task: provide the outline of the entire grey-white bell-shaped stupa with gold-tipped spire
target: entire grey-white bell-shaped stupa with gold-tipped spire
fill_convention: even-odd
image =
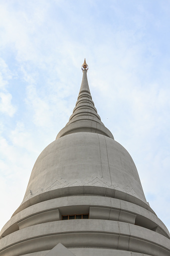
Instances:
[[[136,166],[101,122],[87,70],[69,122],[39,155],[0,256],[169,256],[169,232]],[[2,209],[3,210],[3,209]]]

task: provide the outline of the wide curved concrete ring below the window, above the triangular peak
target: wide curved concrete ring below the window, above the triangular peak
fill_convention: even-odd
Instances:
[[[61,242],[66,247],[102,247],[169,256],[169,239],[129,223],[109,220],[65,220],[42,223],[1,239],[0,255],[18,256],[50,250]]]

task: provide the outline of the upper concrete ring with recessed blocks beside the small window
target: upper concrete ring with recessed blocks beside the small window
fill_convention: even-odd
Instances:
[[[155,232],[161,230],[163,235],[169,237],[165,225],[150,211],[123,200],[99,196],[62,197],[32,205],[14,215],[1,230],[0,237],[19,230],[19,227],[21,229],[22,223],[26,227],[61,220],[61,215],[82,213],[89,213],[91,219],[118,220],[132,223],[129,218],[130,215],[135,218],[137,225]]]

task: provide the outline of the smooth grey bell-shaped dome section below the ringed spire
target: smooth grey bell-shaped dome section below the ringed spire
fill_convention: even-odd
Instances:
[[[115,140],[97,133],[72,133],[49,144],[35,162],[23,203],[73,186],[116,189],[146,203],[130,154]]]

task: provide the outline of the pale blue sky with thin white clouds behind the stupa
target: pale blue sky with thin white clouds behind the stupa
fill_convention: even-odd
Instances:
[[[170,230],[170,2],[0,1],[0,229],[66,125],[86,58],[101,121]]]

